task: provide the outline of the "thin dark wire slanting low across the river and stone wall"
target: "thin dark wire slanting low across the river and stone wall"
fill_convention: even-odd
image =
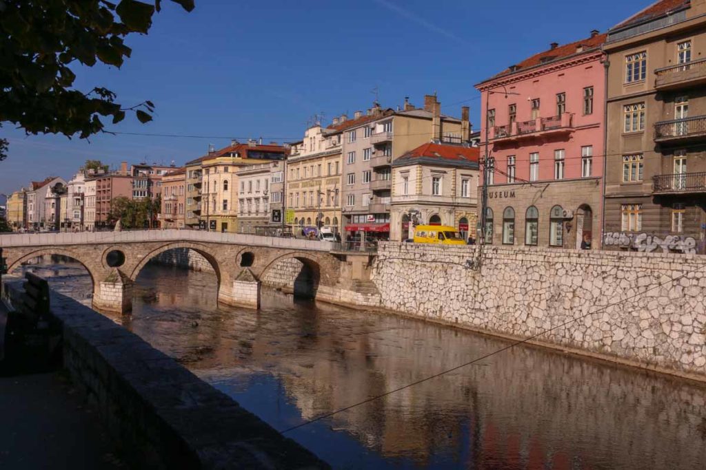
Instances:
[[[388,259],[388,258],[383,257],[383,258],[381,258],[381,261],[383,261],[383,259]],[[406,385],[402,385],[401,387],[395,388],[395,389],[393,389],[393,390],[389,390],[388,392],[381,393],[380,395],[375,395],[375,396],[373,396],[373,397],[366,398],[366,400],[362,400],[362,401],[360,401],[360,402],[357,402],[357,403],[354,403],[354,404],[350,404],[350,405],[347,406],[347,407],[335,409],[333,412],[328,412],[328,413],[322,414],[321,416],[317,416],[316,418],[309,419],[308,421],[304,421],[304,423],[299,423],[299,424],[297,424],[296,426],[291,426],[291,427],[289,427],[289,428],[286,428],[286,429],[280,431],[280,433],[282,433],[282,434],[289,433],[289,432],[291,432],[291,431],[294,431],[295,429],[302,428],[302,427],[307,426],[307,425],[309,425],[309,424],[311,424],[311,423],[316,423],[317,421],[321,421],[322,419],[329,418],[330,416],[333,416],[333,415],[335,415],[335,414],[339,414],[339,413],[345,412],[345,411],[347,411],[347,410],[349,410],[349,409],[352,409],[352,408],[355,408],[355,407],[359,407],[359,406],[361,406],[361,405],[363,405],[363,404],[366,404],[366,403],[369,403],[369,402],[373,402],[373,401],[375,401],[375,400],[379,400],[379,399],[381,399],[381,398],[383,398],[383,397],[387,397],[388,395],[392,395],[393,393],[400,392],[400,391],[402,391],[402,390],[406,390],[407,388],[414,387],[414,385],[419,385],[420,383],[424,383],[424,382],[427,382],[427,381],[431,381],[433,378],[438,378],[438,377],[444,376],[444,375],[446,375],[446,374],[448,374],[448,373],[457,371],[458,369],[462,369],[462,368],[464,368],[464,367],[470,366],[470,365],[475,364],[475,363],[477,363],[477,362],[479,362],[479,361],[482,361],[482,360],[484,360],[484,359],[488,359],[489,357],[492,357],[492,356],[494,356],[494,355],[496,355],[496,354],[500,354],[501,352],[505,352],[505,351],[507,351],[507,350],[510,350],[510,349],[512,349],[512,348],[515,347],[515,346],[522,345],[522,344],[524,344],[524,343],[526,343],[526,342],[529,342],[529,341],[531,341],[531,340],[534,340],[535,338],[538,338],[539,336],[542,336],[542,335],[544,335],[544,334],[546,334],[546,333],[550,333],[550,332],[553,331],[553,330],[556,330],[556,329],[558,329],[558,328],[562,328],[562,327],[564,327],[564,326],[567,326],[567,325],[570,324],[570,323],[575,323],[576,321],[579,321],[579,320],[581,320],[581,319],[585,319],[587,316],[591,316],[591,315],[597,314],[597,313],[599,313],[599,312],[601,312],[601,311],[604,311],[604,310],[606,310],[606,309],[609,309],[610,307],[615,307],[616,305],[622,304],[623,302],[627,302],[627,301],[630,300],[630,299],[634,299],[635,297],[638,297],[638,296],[640,296],[640,295],[645,295],[647,292],[650,292],[651,290],[657,289],[657,288],[659,288],[659,287],[663,287],[664,285],[667,285],[667,284],[670,284],[670,283],[674,283],[676,280],[680,280],[681,278],[684,278],[684,277],[688,276],[688,275],[691,274],[691,273],[695,273],[695,272],[697,272],[697,271],[700,271],[700,270],[701,270],[702,268],[704,268],[705,266],[706,266],[706,265],[700,266],[700,267],[695,268],[695,269],[693,269],[693,270],[687,271],[686,273],[682,273],[681,275],[675,276],[674,278],[670,278],[669,280],[666,280],[666,281],[664,281],[663,283],[659,283],[659,284],[657,284],[657,285],[654,285],[654,286],[652,286],[652,287],[649,287],[649,288],[647,288],[646,290],[644,290],[644,291],[642,291],[642,292],[638,292],[638,293],[636,293],[636,294],[634,294],[634,295],[630,295],[630,296],[625,297],[625,298],[623,298],[623,299],[620,299],[620,300],[618,300],[618,301],[616,301],[616,302],[613,302],[613,303],[611,303],[611,304],[608,304],[608,305],[606,305],[606,306],[604,306],[604,307],[600,307],[600,308],[597,309],[597,310],[590,311],[590,312],[588,312],[587,314],[583,314],[583,315],[580,315],[580,316],[575,317],[575,318],[573,318],[573,319],[570,319],[570,320],[568,320],[568,321],[565,321],[565,322],[563,322],[563,323],[561,323],[561,324],[559,324],[559,325],[557,325],[557,326],[553,326],[553,327],[551,327],[551,328],[547,328],[546,330],[542,330],[542,331],[540,331],[539,333],[535,333],[534,335],[531,335],[531,336],[529,336],[529,337],[527,337],[527,338],[525,338],[525,339],[523,339],[523,340],[517,340],[517,341],[515,341],[515,342],[512,342],[510,345],[507,345],[507,346],[505,346],[505,347],[501,347],[499,350],[494,350],[494,351],[491,351],[491,352],[489,352],[489,353],[487,353],[487,354],[483,354],[482,356],[477,357],[477,358],[475,358],[475,359],[472,359],[471,361],[465,362],[464,364],[460,364],[460,365],[458,365],[458,366],[452,367],[451,369],[446,369],[445,371],[441,371],[441,372],[435,373],[435,374],[433,374],[433,375],[431,375],[431,376],[427,376],[427,377],[425,377],[425,378],[421,378],[421,379],[418,380],[418,381],[414,381],[414,382],[411,382],[411,383],[407,383]]]

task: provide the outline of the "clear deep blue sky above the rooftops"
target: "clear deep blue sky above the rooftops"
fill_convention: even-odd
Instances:
[[[573,42],[647,6],[647,0],[196,0],[191,13],[163,2],[149,35],[128,37],[124,66],[80,68],[76,87],[112,89],[124,105],[150,99],[155,120],[135,118],[118,132],[297,140],[307,120],[325,121],[371,106],[413,104],[437,92],[442,111],[471,107],[473,85],[551,42]],[[475,99],[474,99],[475,98]],[[452,106],[445,106],[453,104]],[[11,142],[0,163],[0,193],[46,175],[70,177],[86,159],[177,165],[226,139],[97,135],[25,136],[5,124]]]

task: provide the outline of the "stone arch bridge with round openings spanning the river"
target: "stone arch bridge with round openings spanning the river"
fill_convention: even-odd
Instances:
[[[350,256],[332,252],[330,242],[198,230],[2,235],[0,247],[10,273],[37,256],[75,259],[93,280],[93,307],[121,313],[131,310],[132,285],[143,266],[174,248],[193,249],[205,257],[217,276],[218,301],[241,307],[259,307],[261,279],[285,259],[301,261],[315,297],[332,302],[349,285],[342,278],[349,281],[352,271],[361,271],[350,268]],[[371,259],[359,261],[371,264]]]

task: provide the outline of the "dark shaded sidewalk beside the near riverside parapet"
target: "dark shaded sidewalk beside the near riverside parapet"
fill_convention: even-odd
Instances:
[[[6,309],[0,302],[0,347]],[[0,469],[126,469],[61,373],[0,377]]]

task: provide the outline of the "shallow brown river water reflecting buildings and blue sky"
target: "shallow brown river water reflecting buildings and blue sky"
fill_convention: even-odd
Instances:
[[[34,266],[90,302],[76,264]],[[280,292],[217,307],[212,273],[148,265],[114,318],[278,430],[507,345]],[[288,432],[340,469],[704,469],[706,388],[515,347]]]

